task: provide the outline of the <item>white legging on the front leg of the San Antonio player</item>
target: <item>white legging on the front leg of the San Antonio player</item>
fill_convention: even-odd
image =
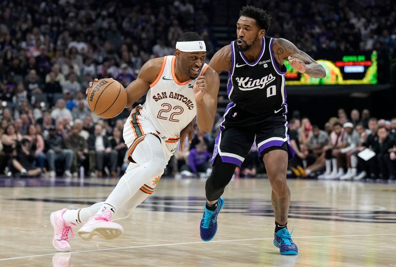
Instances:
[[[104,201],[115,210],[135,195],[146,182],[151,181],[154,177],[160,177],[167,164],[161,143],[152,134],[146,135],[145,139],[136,146],[132,156],[139,166],[132,170],[127,169],[127,172]]]

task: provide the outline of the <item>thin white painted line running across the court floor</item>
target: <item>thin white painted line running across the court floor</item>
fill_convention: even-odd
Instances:
[[[297,237],[293,237],[293,239],[298,239],[298,238],[327,238],[327,237],[353,237],[353,236],[385,236],[385,235],[396,235],[396,233],[395,234],[348,234],[348,235],[297,236]],[[69,252],[69,253],[77,254],[77,253],[95,252],[95,251],[109,251],[109,250],[122,250],[122,249],[134,249],[134,248],[150,248],[150,247],[163,247],[163,246],[178,246],[178,245],[192,245],[192,244],[203,244],[203,243],[256,241],[256,240],[269,240],[269,239],[273,239],[273,237],[250,238],[250,239],[216,240],[216,241],[210,241],[210,242],[197,241],[197,242],[186,242],[186,243],[168,243],[168,244],[121,247],[121,248],[103,248],[103,249],[72,251],[72,252]],[[58,253],[62,253],[62,252],[58,252]],[[0,262],[1,261],[26,259],[26,258],[37,258],[37,257],[44,257],[44,256],[53,256],[53,255],[56,255],[58,253],[49,253],[49,254],[39,254],[39,255],[30,255],[30,256],[22,256],[22,257],[5,258],[5,259],[0,259]]]

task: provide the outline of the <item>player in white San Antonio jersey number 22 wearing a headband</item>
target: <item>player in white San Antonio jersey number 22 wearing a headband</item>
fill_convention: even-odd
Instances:
[[[70,251],[68,232],[77,224],[85,223],[78,230],[84,240],[121,235],[122,226],[113,221],[128,217],[152,194],[183,129],[192,130],[197,117],[202,133],[212,130],[219,77],[205,64],[205,56],[202,38],[187,32],[177,40],[174,56],[150,59],[142,66],[138,78],[126,88],[127,106],[147,94],[146,102],[136,106],[124,126],[131,163],[104,202],[51,214],[52,244],[57,251]]]

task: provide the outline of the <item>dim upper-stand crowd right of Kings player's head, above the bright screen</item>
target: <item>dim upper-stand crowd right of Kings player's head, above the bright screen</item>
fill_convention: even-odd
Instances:
[[[269,35],[287,38],[315,56],[320,52],[376,49],[396,56],[396,6],[392,0],[248,0],[273,17]]]

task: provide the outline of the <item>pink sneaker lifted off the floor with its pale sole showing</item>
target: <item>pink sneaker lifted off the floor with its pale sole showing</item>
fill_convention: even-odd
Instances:
[[[123,232],[124,228],[122,228],[120,224],[111,222],[111,211],[92,216],[88,222],[77,231],[80,237],[86,241],[92,240],[95,236],[108,240],[115,239]]]

